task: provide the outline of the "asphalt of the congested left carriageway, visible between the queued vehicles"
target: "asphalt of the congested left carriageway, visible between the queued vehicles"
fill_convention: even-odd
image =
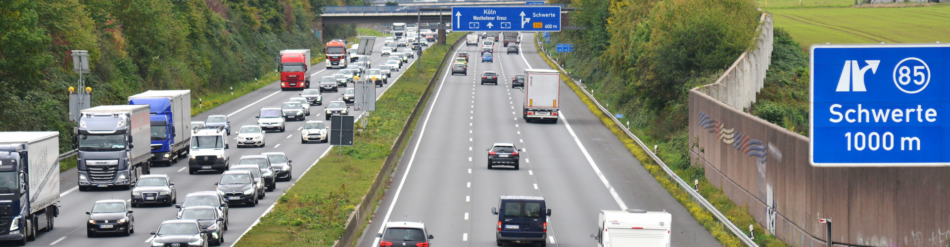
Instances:
[[[373,47],[374,55],[371,58],[372,67],[382,65],[387,57],[379,55],[379,47],[383,46],[382,38],[376,41],[376,47]],[[400,47],[402,50],[403,47]],[[425,47],[423,47],[425,48]],[[404,65],[404,69],[393,71],[390,77],[390,84],[383,87],[377,87],[376,95],[382,95],[392,84],[398,83],[398,77],[414,63],[415,59],[409,59],[409,64]],[[309,73],[312,77],[312,88],[317,88],[320,77],[332,75],[337,69],[324,69],[324,64],[320,63],[312,66]],[[349,87],[354,85],[350,84]],[[324,107],[331,101],[340,100],[343,97],[343,91],[327,92],[323,94],[324,105],[311,106],[311,116],[307,120],[324,120]],[[237,100],[221,104],[218,107],[205,111],[192,118],[193,121],[204,121],[209,115],[226,115],[231,121],[233,129],[229,136],[231,163],[237,163],[242,155],[260,154],[262,152],[285,152],[288,158],[293,162],[294,180],[277,182],[276,190],[267,192],[266,198],[261,199],[256,207],[235,206],[230,210],[229,229],[224,234],[225,242],[223,246],[232,245],[237,237],[245,233],[257,219],[266,211],[269,211],[280,195],[286,191],[303,173],[314,164],[314,162],[329,150],[328,143],[300,143],[300,128],[304,122],[287,122],[287,130],[284,133],[269,132],[265,135],[266,147],[237,148],[237,129],[241,125],[256,125],[258,110],[263,106],[280,106],[291,97],[298,97],[300,91],[281,91],[279,83],[266,85],[254,92],[237,98]],[[193,95],[193,98],[199,98],[199,95]],[[198,99],[193,99],[198,100]],[[358,110],[352,110],[351,115],[361,114]],[[200,172],[196,175],[188,175],[187,159],[181,159],[169,167],[152,167],[152,174],[167,174],[178,189],[178,202],[184,197],[195,191],[213,191],[214,182],[218,181],[220,175],[215,172]],[[86,211],[91,209],[93,202],[99,199],[129,199],[128,190],[92,190],[78,191],[76,187],[75,169],[63,172],[61,175],[62,199],[60,201],[61,213],[56,218],[56,225],[53,231],[40,233],[35,240],[28,242],[28,246],[150,246],[148,234],[150,231],[157,230],[161,220],[175,218],[178,212],[174,207],[137,207],[134,208],[135,233],[129,237],[93,237],[85,236],[85,221],[88,219]]]

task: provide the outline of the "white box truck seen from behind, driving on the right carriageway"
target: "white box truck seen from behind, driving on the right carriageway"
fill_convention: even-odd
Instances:
[[[561,100],[561,72],[552,69],[524,69],[524,122],[542,120],[558,123]]]

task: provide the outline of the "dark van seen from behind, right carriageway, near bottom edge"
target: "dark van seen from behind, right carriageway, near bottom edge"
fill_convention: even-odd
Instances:
[[[551,210],[544,205],[542,197],[504,196],[499,208],[491,208],[498,215],[496,242],[536,243],[547,245],[547,217]]]

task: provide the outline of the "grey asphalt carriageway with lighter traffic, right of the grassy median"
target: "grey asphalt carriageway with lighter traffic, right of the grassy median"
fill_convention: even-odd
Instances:
[[[673,215],[673,246],[720,245],[656,182],[580,98],[561,85],[561,121],[525,123],[523,92],[511,78],[547,66],[531,33],[522,53],[496,45],[494,63],[471,54],[468,75],[441,75],[414,130],[392,185],[359,246],[378,246],[385,221],[422,221],[435,246],[494,246],[500,196],[541,196],[552,215],[549,246],[594,246],[599,210],[666,210]],[[450,66],[450,65],[447,65]],[[480,85],[485,71],[499,85]],[[525,148],[521,169],[485,167],[494,142]],[[611,189],[613,188],[613,189]]]

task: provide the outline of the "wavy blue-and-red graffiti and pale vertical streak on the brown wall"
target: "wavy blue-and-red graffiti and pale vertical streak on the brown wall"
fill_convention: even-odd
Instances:
[[[708,130],[709,133],[715,135],[715,139],[723,142],[735,150],[747,154],[749,157],[755,158],[755,167],[758,172],[758,196],[759,199],[765,199],[766,201],[766,229],[769,230],[769,233],[772,235],[775,234],[775,216],[778,213],[778,210],[775,207],[775,199],[772,196],[771,184],[766,180],[766,168],[768,154],[769,152],[774,152],[773,156],[777,155],[778,159],[781,159],[782,153],[778,151],[778,147],[772,145],[770,142],[766,144],[758,139],[750,137],[749,134],[738,132],[735,128],[726,128],[726,124],[719,121],[719,119],[712,118],[709,114],[706,114],[703,111],[699,111],[699,126]]]

